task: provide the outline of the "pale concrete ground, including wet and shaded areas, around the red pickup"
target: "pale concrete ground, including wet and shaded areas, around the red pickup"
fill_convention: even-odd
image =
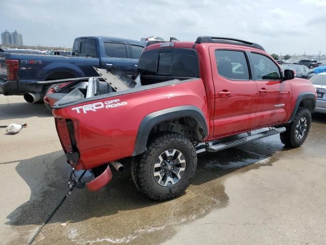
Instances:
[[[9,104],[8,104],[9,102]],[[0,244],[26,244],[59,204],[70,167],[42,104],[0,95]],[[152,202],[129,163],[98,192],[74,190],[33,244],[326,244],[326,115],[301,148],[279,136],[198,156],[182,197]]]

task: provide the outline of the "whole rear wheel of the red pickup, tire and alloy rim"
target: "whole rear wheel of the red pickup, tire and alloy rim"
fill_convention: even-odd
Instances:
[[[155,201],[178,197],[196,173],[194,145],[185,136],[167,133],[152,139],[131,166],[138,189]]]

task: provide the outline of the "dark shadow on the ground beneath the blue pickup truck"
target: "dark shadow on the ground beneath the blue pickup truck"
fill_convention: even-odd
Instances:
[[[49,117],[51,112],[43,103],[10,103],[0,104],[0,119],[28,118],[32,116]]]

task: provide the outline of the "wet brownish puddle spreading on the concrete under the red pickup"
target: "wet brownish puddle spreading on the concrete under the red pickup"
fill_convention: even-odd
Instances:
[[[228,205],[229,197],[223,185],[225,178],[228,178],[226,175],[271,165],[274,156],[270,157],[270,151],[257,152],[233,148],[220,153],[200,154],[197,174],[191,186],[184,195],[167,202],[153,202],[145,198],[134,186],[130,164],[126,161],[126,171],[119,174],[114,170],[113,180],[100,191],[74,190],[35,242],[159,244],[176,234],[178,225],[192,222],[212,209]],[[66,164],[62,159],[59,160],[56,160],[57,164]],[[53,174],[60,176],[58,171]],[[53,180],[53,176],[48,179]],[[50,183],[48,186],[52,187]],[[21,207],[16,222],[11,222],[11,225],[17,226],[20,231],[40,225],[51,211],[43,205],[48,203],[53,207],[59,203],[60,194],[64,193],[54,188],[42,192],[39,198]],[[63,223],[66,225],[62,226]]]

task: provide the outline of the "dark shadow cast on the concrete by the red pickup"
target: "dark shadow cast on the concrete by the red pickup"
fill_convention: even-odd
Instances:
[[[278,150],[285,149],[278,144]],[[157,213],[161,213],[157,212],[157,209],[171,212],[171,205],[182,207],[184,215],[189,217],[197,213],[198,208],[207,212],[213,207],[222,208],[228,204],[228,196],[219,177],[240,169],[250,170],[271,165],[276,159],[273,156],[274,153],[273,150],[266,150],[255,144],[228,149],[220,153],[202,153],[198,156],[197,174],[186,194],[178,199],[161,203],[153,202],[139,192],[131,179],[130,161],[125,160],[125,172],[120,174],[112,168],[114,177],[101,190],[97,192],[90,192],[87,189],[74,190],[49,223],[64,223],[67,220],[70,223],[77,223],[93,217],[105,218],[106,216],[111,216],[116,220],[115,222],[120,222],[119,215],[116,214],[120,212],[121,215],[121,211],[124,210],[131,212],[128,215],[136,217],[146,210],[146,213],[152,213],[155,217],[159,215]],[[250,166],[246,167],[248,165]],[[20,160],[16,170],[29,185],[32,193],[28,202],[20,205],[7,216],[9,221],[6,224],[11,226],[40,225],[64,197],[70,166],[66,163],[63,152],[58,151]],[[213,187],[210,181],[214,181]],[[181,220],[182,217],[179,218]]]

